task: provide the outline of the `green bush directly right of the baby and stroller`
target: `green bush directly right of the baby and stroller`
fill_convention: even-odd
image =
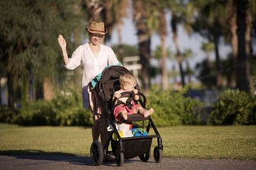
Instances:
[[[156,87],[150,91],[147,108],[154,108],[152,119],[157,126],[200,124],[194,109],[201,103],[185,97],[184,93],[156,90]]]

